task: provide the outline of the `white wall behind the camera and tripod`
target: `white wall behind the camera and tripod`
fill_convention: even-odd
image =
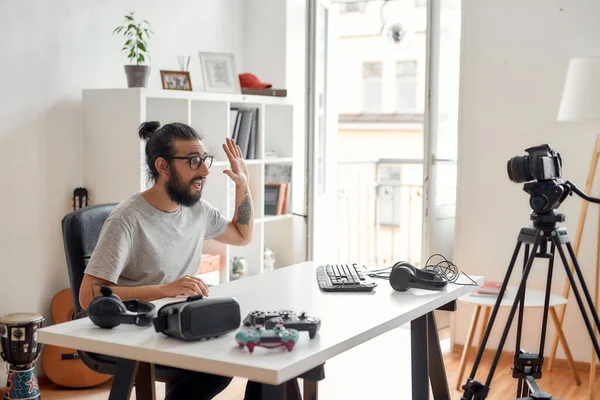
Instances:
[[[529,196],[512,183],[509,158],[531,145],[550,143],[563,156],[563,177],[585,187],[587,170],[600,123],[557,122],[568,60],[600,54],[600,3],[593,0],[463,0],[461,49],[460,156],[455,262],[467,273],[501,280],[517,235],[529,221]],[[593,194],[600,195],[599,183]],[[559,208],[574,239],[581,199],[570,197]],[[579,260],[589,285],[595,271],[598,208],[591,206]],[[534,264],[529,286],[543,289],[546,268]],[[522,258],[513,280],[518,283]],[[566,276],[557,260],[553,291],[562,293]],[[593,289],[592,289],[593,290]],[[593,292],[592,292],[593,293]],[[564,323],[576,360],[590,360],[591,342],[571,295]],[[508,309],[499,313],[488,347],[497,347]],[[455,340],[464,343],[472,308],[459,304]],[[526,312],[522,346],[537,351],[541,312]],[[516,323],[513,323],[513,327]],[[514,330],[513,330],[514,332]],[[546,354],[554,329],[548,328]],[[514,351],[514,334],[504,350]],[[559,356],[564,357],[562,350]],[[485,372],[487,374],[487,371]]]

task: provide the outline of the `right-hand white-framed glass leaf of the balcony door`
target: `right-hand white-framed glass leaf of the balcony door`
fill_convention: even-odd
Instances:
[[[451,261],[456,211],[461,0],[430,0],[429,4],[431,95],[425,129],[423,254],[429,257],[439,253]]]

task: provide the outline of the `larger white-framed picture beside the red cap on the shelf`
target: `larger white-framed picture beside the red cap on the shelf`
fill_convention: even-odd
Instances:
[[[200,53],[204,90],[219,93],[241,93],[235,58],[230,53]]]

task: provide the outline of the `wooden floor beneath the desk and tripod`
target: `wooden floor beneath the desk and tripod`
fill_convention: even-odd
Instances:
[[[401,327],[328,361],[325,368],[326,379],[319,384],[319,399],[409,399],[410,394],[405,396],[402,393],[406,393],[407,389],[410,390],[410,353],[406,354],[406,346],[398,346],[398,341],[409,337],[409,333],[409,329]],[[444,343],[446,346],[444,346]],[[449,341],[447,339],[443,340],[442,349],[448,346]],[[383,356],[383,354],[386,356]],[[484,356],[476,377],[478,380],[485,381],[491,360],[491,354]],[[462,391],[455,390],[460,353],[447,351],[444,355],[444,361],[452,399],[460,400]],[[487,399],[515,398],[516,379],[511,377],[511,367],[511,357],[502,357],[494,374]],[[471,364],[467,365],[464,380],[470,373],[470,369]],[[566,366],[555,366],[552,372],[544,371],[538,384],[542,390],[552,394],[553,398],[563,400],[586,399],[589,371],[581,368],[579,372],[582,379],[580,386],[575,385]],[[597,379],[597,382],[596,389],[600,391],[600,379]],[[245,384],[244,379],[236,378],[215,399],[243,399]],[[105,400],[108,398],[108,392],[110,391],[110,381],[96,388],[65,390],[40,377],[40,386],[44,400]],[[164,385],[157,383],[157,399],[163,398]],[[135,396],[132,396],[132,399],[135,399]]]

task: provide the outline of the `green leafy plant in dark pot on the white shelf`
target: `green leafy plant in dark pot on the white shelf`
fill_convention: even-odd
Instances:
[[[150,23],[146,20],[136,22],[132,12],[125,16],[125,20],[120,26],[115,28],[113,35],[115,33],[123,34],[126,41],[121,50],[127,53],[127,59],[135,63],[125,65],[127,86],[146,87],[148,74],[150,73],[150,66],[143,65],[147,59],[150,59],[146,40],[150,39],[151,34],[154,34],[150,30]]]

